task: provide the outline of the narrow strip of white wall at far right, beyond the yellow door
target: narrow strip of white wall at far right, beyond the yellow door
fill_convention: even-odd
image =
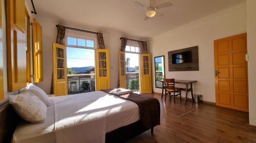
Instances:
[[[256,1],[247,0],[247,48],[249,54],[249,122],[256,126]]]

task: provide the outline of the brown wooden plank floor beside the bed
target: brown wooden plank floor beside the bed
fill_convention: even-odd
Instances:
[[[160,95],[161,125],[128,142],[256,142],[256,127],[248,125],[248,113],[209,104],[184,105]]]

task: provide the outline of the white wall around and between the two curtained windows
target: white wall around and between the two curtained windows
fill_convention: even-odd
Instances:
[[[74,24],[71,22],[63,22],[62,20],[55,20],[52,16],[40,13],[35,17],[42,26],[42,55],[44,67],[44,80],[36,83],[46,93],[50,93],[51,78],[52,78],[52,43],[56,42],[57,28],[56,24],[63,24],[70,27],[81,28],[94,32],[102,32],[105,48],[110,49],[110,78],[111,88],[116,88],[118,85],[118,51],[120,50],[120,37],[136,38],[138,40],[147,40],[145,38],[123,34],[117,31],[102,30],[99,27],[91,27],[87,25]]]

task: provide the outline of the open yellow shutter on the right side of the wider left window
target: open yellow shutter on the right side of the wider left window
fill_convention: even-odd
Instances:
[[[96,49],[96,91],[110,89],[109,49]]]

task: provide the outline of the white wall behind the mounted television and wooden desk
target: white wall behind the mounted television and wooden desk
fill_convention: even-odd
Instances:
[[[166,78],[197,80],[194,93],[202,94],[205,101],[215,102],[214,40],[242,33],[246,33],[245,4],[153,37],[152,57],[165,55]],[[199,47],[199,71],[169,72],[168,51],[192,46]],[[152,67],[153,88],[155,92],[160,93],[161,89],[155,88],[154,66]],[[190,93],[188,97],[191,97]]]

